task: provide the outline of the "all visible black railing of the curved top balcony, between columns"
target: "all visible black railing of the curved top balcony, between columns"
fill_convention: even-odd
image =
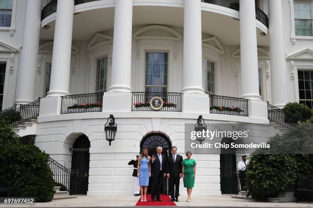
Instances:
[[[80,5],[89,2],[96,2],[100,0],[75,0],[75,5]],[[203,3],[214,4],[221,7],[230,8],[239,11],[239,0],[201,0]],[[55,13],[57,10],[57,0],[51,1],[41,11],[41,20]],[[262,22],[266,27],[269,27],[269,17],[258,7],[255,8],[256,19]]]

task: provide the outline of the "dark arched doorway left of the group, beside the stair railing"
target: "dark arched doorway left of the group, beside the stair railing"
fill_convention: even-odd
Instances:
[[[89,177],[90,141],[86,135],[79,136],[73,144],[72,170],[77,173],[77,194],[87,194]]]

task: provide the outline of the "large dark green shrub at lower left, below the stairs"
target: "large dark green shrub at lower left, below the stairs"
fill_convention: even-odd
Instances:
[[[0,175],[11,182],[12,197],[35,197],[36,202],[51,201],[53,174],[48,154],[33,145],[10,143],[0,149]]]

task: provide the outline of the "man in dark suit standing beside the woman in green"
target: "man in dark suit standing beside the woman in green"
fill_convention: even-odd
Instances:
[[[180,193],[180,179],[182,177],[183,157],[177,154],[177,148],[172,147],[172,154],[167,159],[167,177],[169,178],[169,186],[172,201],[178,202],[178,194]],[[176,188],[176,189],[175,189]]]

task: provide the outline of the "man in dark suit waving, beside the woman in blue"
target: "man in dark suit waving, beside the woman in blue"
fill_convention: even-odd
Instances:
[[[163,177],[166,176],[166,157],[162,154],[162,147],[157,147],[157,154],[151,157],[151,200],[161,201],[161,187],[163,184]]]

